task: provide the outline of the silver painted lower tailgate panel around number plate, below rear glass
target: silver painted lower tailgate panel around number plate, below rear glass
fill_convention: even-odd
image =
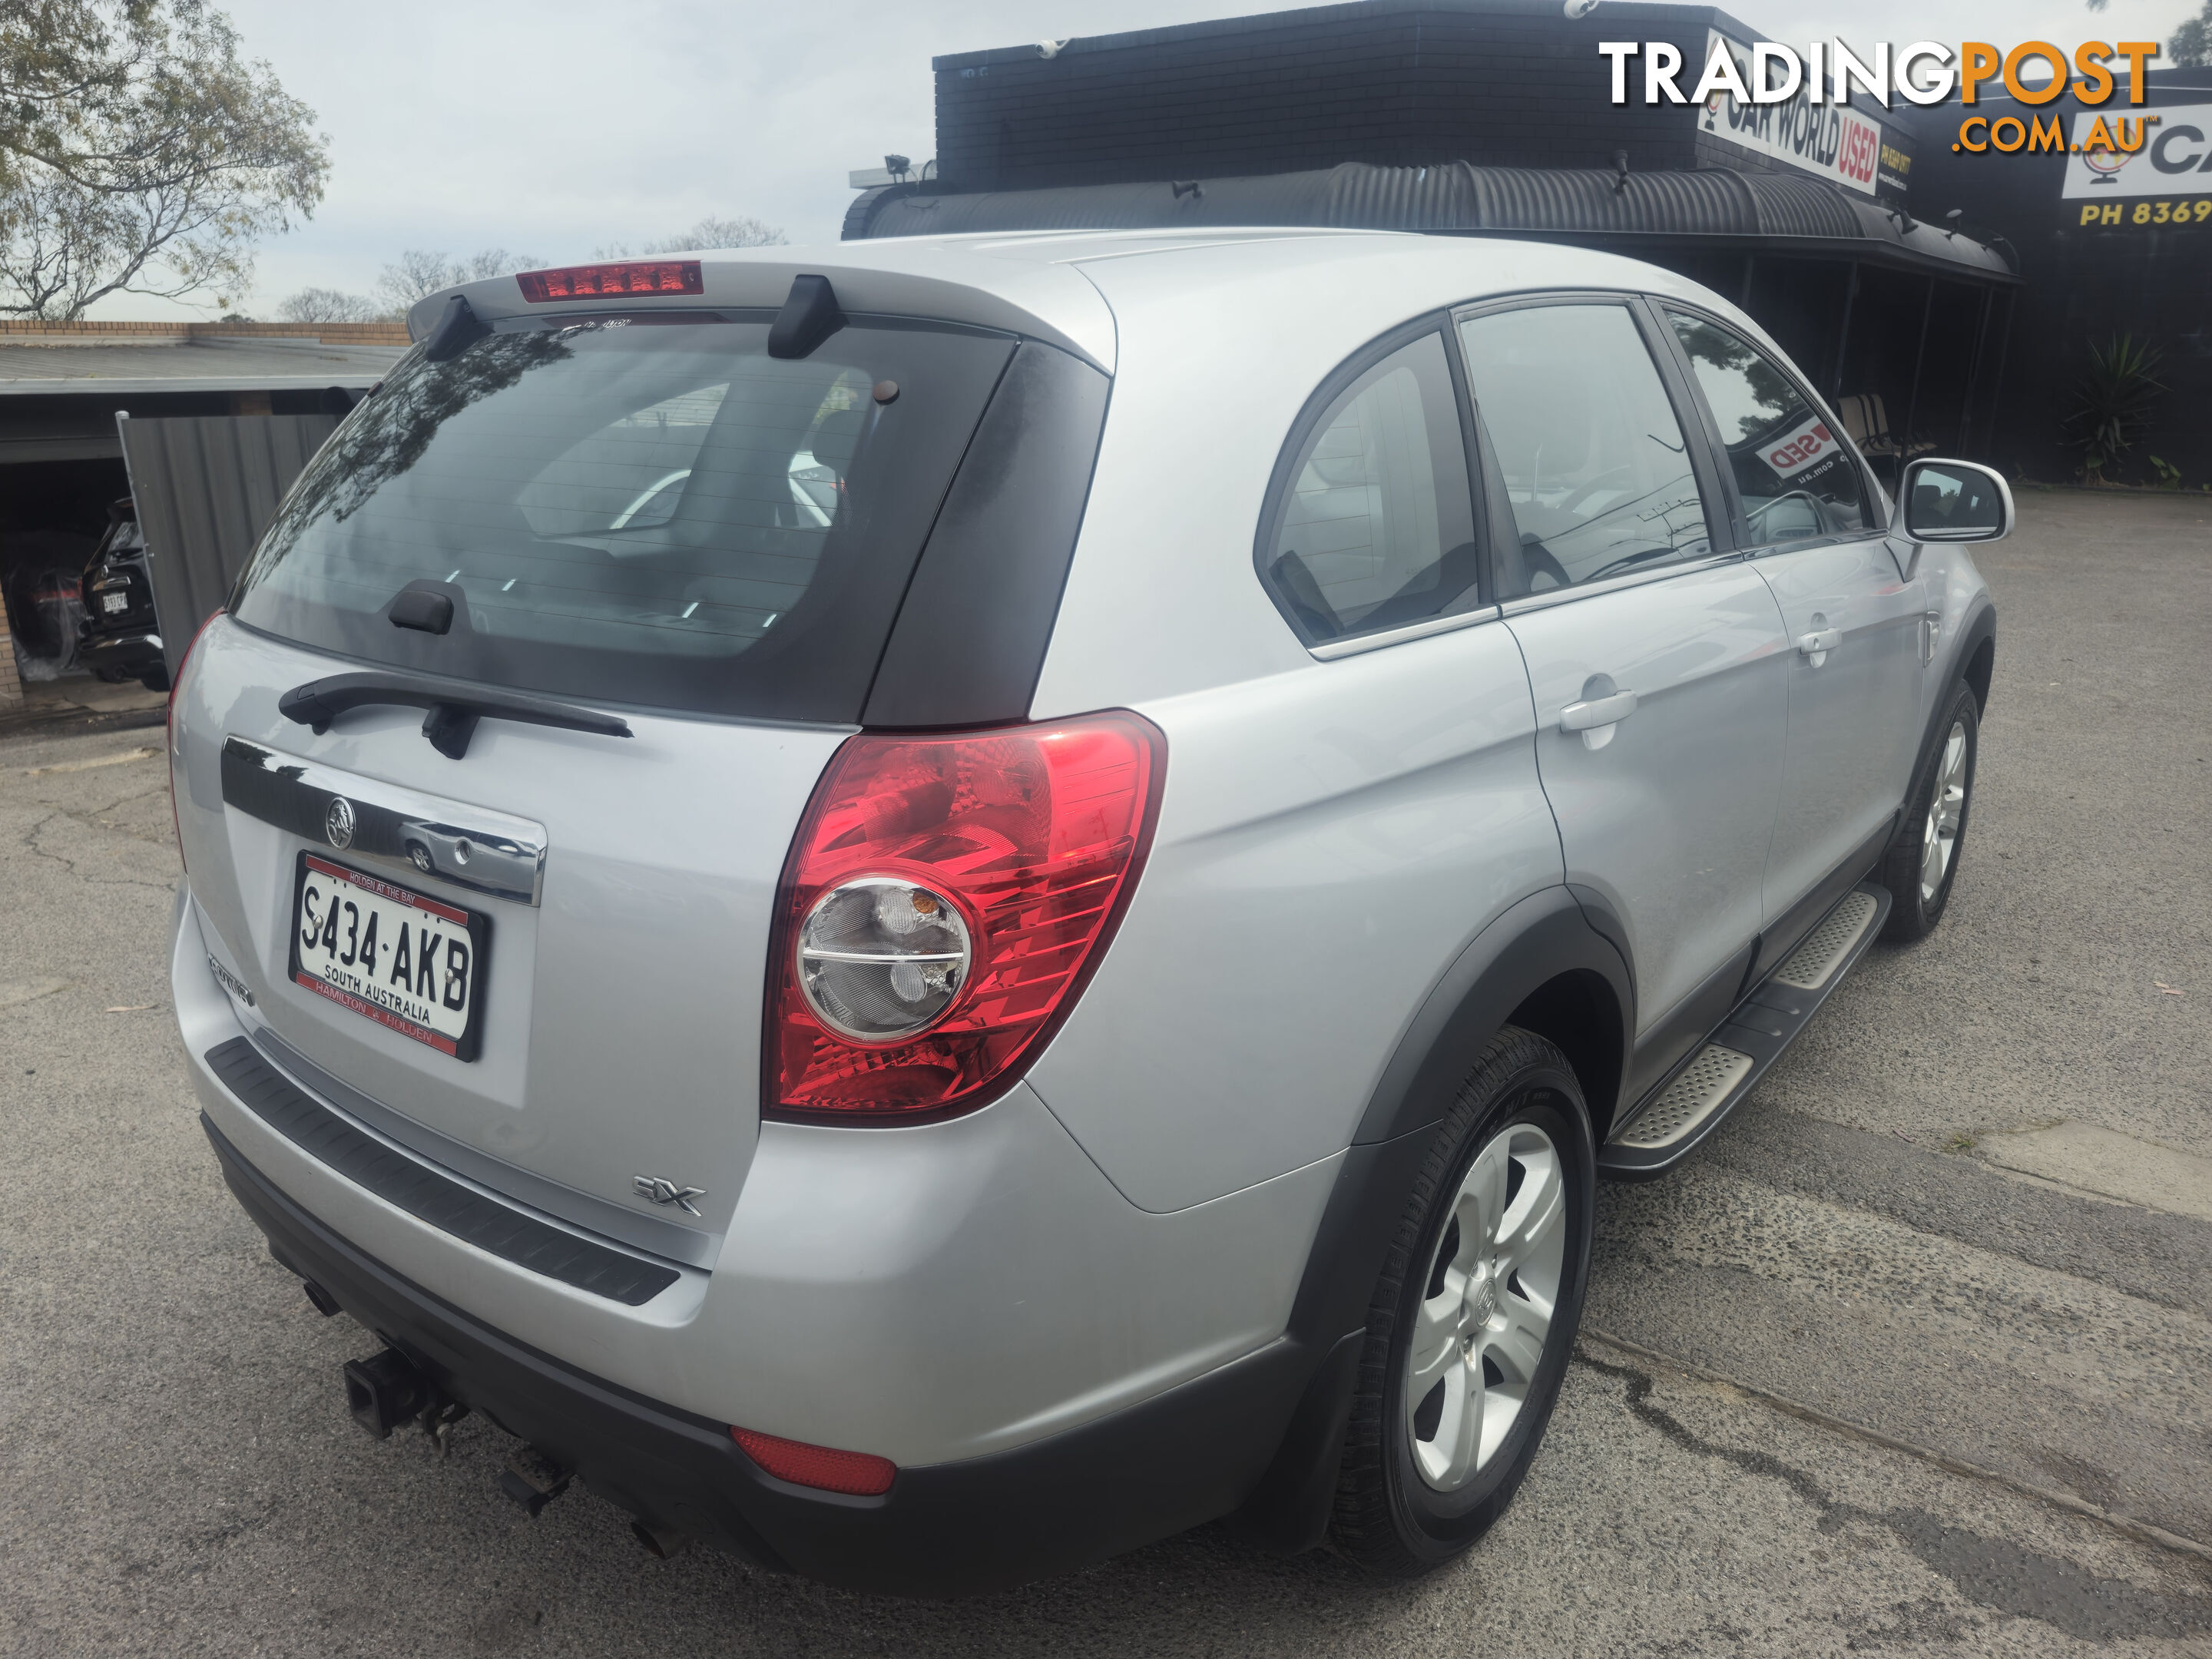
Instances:
[[[484,721],[456,763],[422,741],[418,710],[361,710],[323,737],[276,712],[283,690],[330,668],[219,617],[179,697],[177,810],[192,896],[210,951],[254,993],[248,1018],[263,1018],[288,1048],[369,1102],[542,1179],[491,1181],[513,1197],[582,1225],[602,1221],[597,1203],[562,1203],[542,1186],[555,1183],[719,1234],[757,1126],[776,878],[843,732],[633,717],[624,741]],[[392,799],[447,803],[418,816],[460,830],[502,818],[542,827],[538,902],[449,878],[465,872],[447,845],[429,849],[429,874],[403,872],[365,836],[338,849],[296,818],[257,816],[259,801],[226,805],[226,743],[234,796],[241,748],[261,750],[276,757],[276,772],[303,774],[305,790],[345,794],[356,834]],[[367,787],[330,787],[347,779]],[[301,854],[489,922],[484,960],[473,964],[482,1006],[473,1060],[292,978]],[[476,852],[471,865],[484,863]],[[387,984],[394,958],[387,929]],[[688,1199],[699,1217],[653,1203],[637,1177],[699,1188]]]

